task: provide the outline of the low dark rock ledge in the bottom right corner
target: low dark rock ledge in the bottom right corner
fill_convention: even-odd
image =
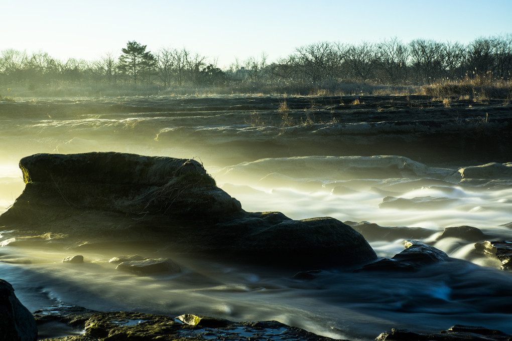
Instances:
[[[439,333],[416,333],[406,329],[395,329],[377,336],[375,341],[508,341],[512,335],[484,327],[455,325]]]

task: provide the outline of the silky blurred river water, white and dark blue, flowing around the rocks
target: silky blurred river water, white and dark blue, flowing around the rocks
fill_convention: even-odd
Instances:
[[[119,250],[91,250],[81,253],[85,263],[68,264],[61,260],[70,252],[46,246],[11,246],[0,236],[5,245],[0,247],[0,278],[14,286],[29,310],[71,304],[103,311],[276,320],[352,340],[373,339],[392,327],[432,332],[454,324],[512,333],[510,272],[500,270],[499,261],[476,255],[474,242],[438,239],[444,228],[461,225],[479,228],[490,240],[512,239],[512,229],[507,226],[512,222],[512,179],[465,183],[457,174],[458,168],[467,164],[433,167],[400,156],[310,155],[229,163],[215,153],[197,154],[190,146],[155,142],[148,127],[161,130],[173,126],[169,119],[158,117],[4,120],[4,131],[0,131],[0,213],[23,191],[17,167],[20,157],[62,152],[78,143],[78,151],[196,157],[218,186],[240,200],[246,211],[429,229],[431,233],[417,239],[452,259],[418,272],[352,272],[318,264],[322,271],[314,278],[297,279],[294,272],[272,267],[177,257],[174,260],[182,266],[182,273],[140,277],[117,271],[115,264],[108,262],[121,255]],[[138,120],[136,138],[126,128],[134,126],[130,120]],[[194,117],[188,120],[190,125],[204,124]],[[110,136],[116,129],[122,130],[122,140]],[[73,138],[74,143],[63,145]],[[410,166],[397,168],[404,163]],[[379,257],[392,257],[403,250],[407,238],[367,239]]]

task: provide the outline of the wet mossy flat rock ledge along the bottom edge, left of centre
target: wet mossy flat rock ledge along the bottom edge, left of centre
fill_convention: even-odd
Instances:
[[[43,312],[36,313],[49,322]],[[137,312],[85,312],[55,316],[57,321],[81,326],[83,335],[47,338],[41,341],[91,341],[109,340],[304,340],[328,341],[332,338],[318,336],[300,328],[290,327],[275,321],[240,322],[215,319],[201,315],[185,314],[178,317],[144,314]]]

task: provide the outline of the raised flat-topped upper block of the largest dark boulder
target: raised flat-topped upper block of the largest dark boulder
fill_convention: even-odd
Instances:
[[[116,152],[35,154],[22,158],[19,167],[25,190],[8,216],[34,204],[176,216],[241,210],[195,160]]]

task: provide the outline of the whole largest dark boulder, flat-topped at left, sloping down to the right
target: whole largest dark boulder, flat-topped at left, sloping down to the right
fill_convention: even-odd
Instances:
[[[295,268],[376,259],[364,237],[336,219],[245,212],[195,160],[35,154],[20,168],[25,190],[0,216],[19,243],[37,234],[58,236],[68,249],[124,246]]]

